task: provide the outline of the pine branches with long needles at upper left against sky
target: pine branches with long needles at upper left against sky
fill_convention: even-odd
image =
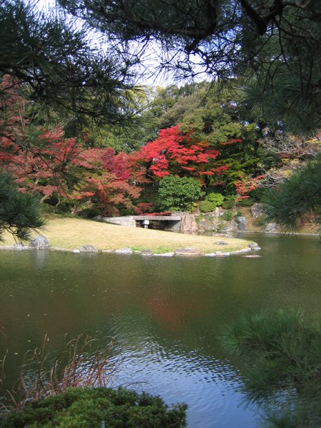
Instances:
[[[0,5],[0,76],[15,78],[41,108],[81,123],[116,123],[134,111],[128,58],[99,51],[89,34],[58,9],[50,16],[33,2]],[[96,43],[97,45],[97,43]]]

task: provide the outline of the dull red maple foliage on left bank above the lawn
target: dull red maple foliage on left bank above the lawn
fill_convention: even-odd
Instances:
[[[74,208],[98,205],[103,213],[117,213],[115,205],[133,208],[141,171],[132,170],[131,156],[115,155],[111,148],[82,150],[76,138],[63,138],[58,128],[37,129],[31,140],[24,98],[6,76],[0,83],[0,101],[1,166],[14,175],[21,191],[40,193],[42,200],[63,197]]]

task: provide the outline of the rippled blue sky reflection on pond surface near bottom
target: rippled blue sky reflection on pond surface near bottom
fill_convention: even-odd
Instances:
[[[153,350],[153,352],[151,352]],[[143,340],[123,349],[117,384],[161,394],[165,402],[188,404],[188,427],[255,427],[254,408],[245,409],[240,384],[227,362],[201,355],[200,350],[165,350]],[[228,414],[228,417],[227,417]],[[242,420],[242,424],[240,424]]]

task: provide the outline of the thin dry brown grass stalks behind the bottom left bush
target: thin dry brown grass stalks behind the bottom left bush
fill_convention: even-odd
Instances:
[[[4,384],[6,355],[1,362],[0,412],[21,409],[27,402],[66,392],[68,388],[107,387],[115,367],[110,363],[113,341],[106,347],[88,335],[78,335],[66,342],[65,349],[54,359],[47,351],[45,335],[41,347],[26,352],[19,379],[11,390],[1,394]]]

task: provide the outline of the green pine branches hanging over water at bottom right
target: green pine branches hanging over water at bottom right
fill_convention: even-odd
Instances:
[[[243,361],[244,391],[267,427],[321,427],[321,330],[302,311],[244,317],[223,343]]]

